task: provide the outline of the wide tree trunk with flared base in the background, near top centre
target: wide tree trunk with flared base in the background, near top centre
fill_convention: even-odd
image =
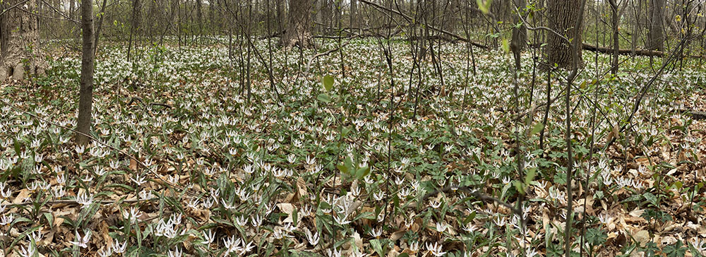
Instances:
[[[287,24],[287,32],[280,40],[280,45],[287,48],[294,46],[311,48],[314,46],[309,26],[310,10],[310,0],[289,1],[289,24]]]

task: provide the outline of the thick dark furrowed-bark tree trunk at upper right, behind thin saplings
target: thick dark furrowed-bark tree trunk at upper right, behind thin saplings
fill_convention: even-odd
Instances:
[[[583,23],[580,24],[579,28],[574,28],[576,22],[579,20],[579,10],[581,0],[550,0],[547,4],[549,13],[549,28],[563,35],[564,37],[574,42],[578,40],[579,45],[581,44],[581,30]],[[574,30],[578,29],[578,38],[572,38],[575,35]],[[548,32],[547,33],[547,64],[556,64],[558,68],[570,68],[572,64],[572,53],[571,47],[566,40],[559,37],[558,35]],[[577,47],[577,56],[579,59],[579,64],[581,64],[581,47]]]

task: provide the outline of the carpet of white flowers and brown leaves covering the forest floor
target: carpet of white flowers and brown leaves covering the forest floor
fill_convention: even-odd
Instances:
[[[337,46],[319,43],[318,52]],[[92,133],[99,142],[85,148],[67,129],[76,125],[78,55],[54,60],[30,85],[2,85],[11,105],[0,107],[4,254],[563,253],[563,97],[551,105],[539,149],[546,73],[536,71],[531,95],[530,52],[522,56],[519,109],[535,111],[515,122],[510,56],[476,49],[472,60],[465,44],[443,44],[443,76],[431,57],[410,76],[409,44],[396,40],[390,88],[381,45],[357,40],[311,66],[313,50],[273,48],[271,80],[264,40],[250,78],[246,52],[229,55],[222,45],[140,47],[131,62],[124,48],[101,49]],[[679,110],[691,106],[685,97],[703,94],[703,68],[687,61],[659,76],[629,130],[603,151],[654,71],[634,58],[609,78],[607,56],[598,67],[594,54],[584,57],[571,98],[574,251],[699,256],[705,133],[703,121]],[[322,80],[330,78],[327,89]],[[563,84],[552,80],[556,97]],[[523,196],[522,215],[478,193],[515,208]]]

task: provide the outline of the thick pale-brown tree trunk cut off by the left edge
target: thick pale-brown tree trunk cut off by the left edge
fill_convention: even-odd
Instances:
[[[44,74],[40,52],[39,22],[35,13],[37,1],[4,1],[4,15],[0,17],[0,81],[11,76],[23,80],[29,75]],[[16,6],[19,5],[19,6]],[[14,8],[8,9],[11,6]]]

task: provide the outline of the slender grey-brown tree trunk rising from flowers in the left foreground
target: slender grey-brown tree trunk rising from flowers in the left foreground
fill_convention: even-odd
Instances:
[[[81,29],[83,30],[83,49],[81,58],[81,78],[78,99],[78,123],[76,143],[86,145],[90,139],[91,110],[93,103],[93,1],[81,1]]]

